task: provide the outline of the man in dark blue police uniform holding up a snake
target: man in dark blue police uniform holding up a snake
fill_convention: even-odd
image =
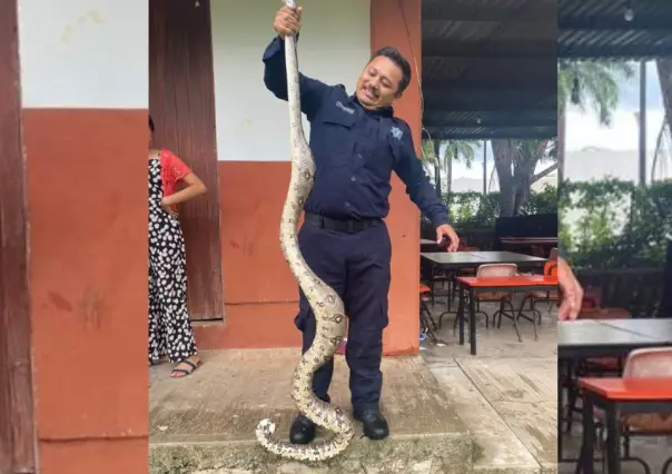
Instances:
[[[281,8],[275,18],[277,37],[264,53],[264,82],[287,100],[284,38],[298,34],[302,9]],[[448,225],[447,210],[436,197],[415,156],[408,125],[393,117],[393,102],[411,81],[411,67],[394,48],[374,55],[357,81],[355,95],[300,75],[302,111],[310,122],[315,184],[304,206],[305,224],[298,240],[310,268],[343,298],[349,317],[346,361],[354,415],[372,440],[389,434],[379,411],[383,374],[383,329],[387,326],[387,293],[392,246],[383,218],[388,214],[391,175],[406,185],[411,199],[436,227],[438,241],[458,238]],[[315,316],[300,292],[295,324],[303,333],[304,352],[315,337]],[[313,379],[315,394],[327,394],[334,362],[320,367]],[[310,443],[315,425],[299,415],[289,440]]]

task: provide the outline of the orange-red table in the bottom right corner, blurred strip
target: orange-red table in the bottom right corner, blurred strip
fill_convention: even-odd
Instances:
[[[672,406],[672,377],[664,378],[579,378],[583,392],[583,443],[581,445],[580,472],[593,474],[594,456],[594,406],[605,412],[607,447],[606,472],[621,474],[619,416],[621,414],[665,413]],[[643,460],[627,456],[627,461]],[[668,464],[670,461],[668,461]],[[649,470],[646,470],[649,471]],[[664,470],[663,472],[666,472]]]

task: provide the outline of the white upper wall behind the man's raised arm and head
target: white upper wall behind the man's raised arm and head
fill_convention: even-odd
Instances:
[[[287,102],[264,86],[261,62],[280,6],[277,0],[211,0],[219,160],[289,159]],[[302,0],[300,6],[302,72],[354,92],[370,57],[369,1]]]

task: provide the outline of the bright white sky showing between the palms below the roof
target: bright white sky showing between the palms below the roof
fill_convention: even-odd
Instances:
[[[582,112],[574,106],[567,111],[566,150],[581,150],[586,147],[610,148],[616,150],[636,150],[639,147],[639,125],[635,112],[640,109],[639,66],[635,76],[621,83],[620,103],[611,127],[599,124],[596,112],[586,109]],[[646,149],[653,150],[664,117],[663,99],[655,62],[646,67]],[[652,152],[652,151],[651,151]],[[488,147],[488,176],[492,171],[492,150]],[[541,168],[543,169],[545,165]],[[472,169],[456,162],[453,166],[453,178],[468,177],[482,179],[483,150],[476,152],[476,162]]]

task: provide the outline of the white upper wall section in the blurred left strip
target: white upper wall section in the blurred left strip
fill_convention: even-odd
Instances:
[[[23,107],[148,107],[148,2],[19,0]]]

